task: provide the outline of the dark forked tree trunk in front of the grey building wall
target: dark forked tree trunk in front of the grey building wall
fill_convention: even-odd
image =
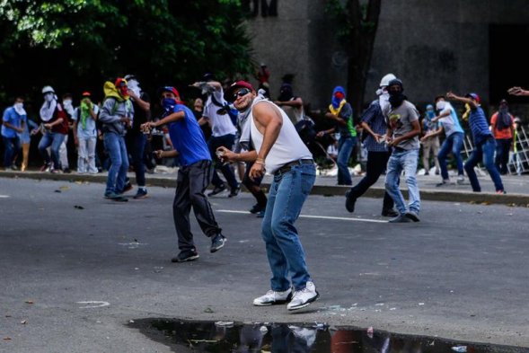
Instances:
[[[348,54],[348,101],[357,112],[362,110],[367,72],[371,66],[381,0],[328,0],[327,11],[338,25],[338,39]]]

